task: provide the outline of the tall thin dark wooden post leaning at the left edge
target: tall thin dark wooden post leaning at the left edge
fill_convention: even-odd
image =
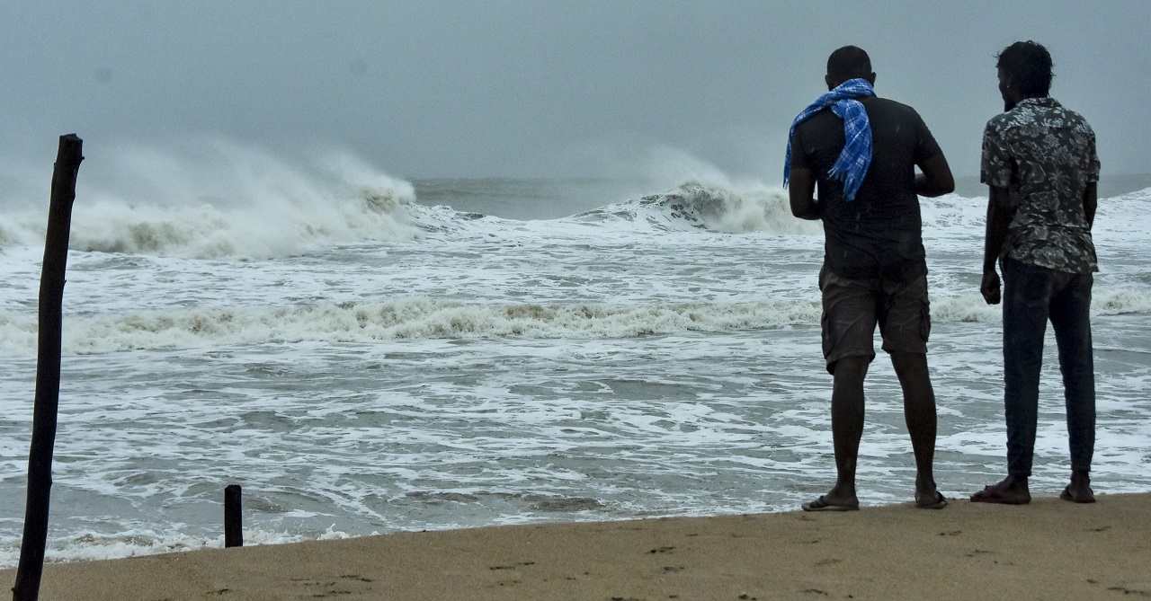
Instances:
[[[36,368],[36,404],[32,409],[32,445],[28,455],[28,504],[24,510],[24,538],[13,601],[36,601],[40,594],[44,548],[48,538],[48,496],[52,492],[52,450],[56,440],[56,409],[60,404],[60,352],[64,267],[68,263],[68,237],[71,207],[76,200],[76,175],[84,141],[75,133],[60,137],[56,164],[52,171],[52,199],[48,203],[48,230],[44,239],[40,271],[40,330]]]

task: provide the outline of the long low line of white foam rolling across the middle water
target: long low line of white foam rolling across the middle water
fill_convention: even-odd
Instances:
[[[608,306],[594,303],[473,305],[406,298],[384,302],[320,303],[280,308],[199,308],[68,319],[69,354],[216,345],[327,341],[371,342],[455,338],[632,338],[817,324],[817,301],[756,301]],[[1097,290],[1095,315],[1151,313],[1146,290]],[[931,316],[943,322],[998,322],[998,306],[978,294],[933,295]],[[36,322],[0,309],[0,355],[31,355]]]

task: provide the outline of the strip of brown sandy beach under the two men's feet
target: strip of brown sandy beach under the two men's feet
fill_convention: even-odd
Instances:
[[[1151,598],[1151,494],[402,532],[49,564],[45,600]],[[3,570],[9,587],[15,570]]]

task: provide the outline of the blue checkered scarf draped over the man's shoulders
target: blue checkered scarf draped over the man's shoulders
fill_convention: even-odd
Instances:
[[[803,109],[792,122],[791,132],[787,133],[787,156],[784,163],[784,187],[787,187],[787,179],[791,176],[791,141],[795,136],[795,125],[807,121],[824,108],[831,107],[831,111],[837,117],[844,120],[844,137],[847,144],[839,153],[836,164],[831,165],[829,176],[844,182],[844,198],[855,200],[860,184],[867,169],[871,167],[871,122],[867,118],[867,110],[863,103],[856,98],[874,97],[875,88],[867,79],[848,79],[834,90],[817,98],[815,102]]]

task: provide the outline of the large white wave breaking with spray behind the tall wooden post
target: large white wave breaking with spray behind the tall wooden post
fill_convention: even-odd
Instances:
[[[259,259],[419,231],[402,209],[414,201],[411,184],[346,153],[296,164],[216,140],[108,154],[94,182],[78,186],[74,251]],[[9,200],[15,206],[0,221],[0,247],[43,244],[46,203],[30,208],[38,200]]]

